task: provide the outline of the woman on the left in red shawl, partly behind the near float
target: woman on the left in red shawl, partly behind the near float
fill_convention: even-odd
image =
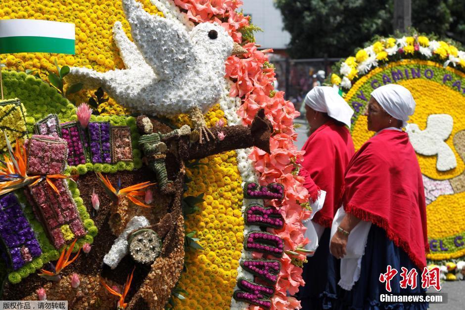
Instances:
[[[334,214],[341,202],[341,187],[345,169],[354,154],[350,136],[350,120],[354,111],[331,87],[315,87],[306,96],[306,117],[310,136],[299,175],[305,177],[314,217],[305,222],[307,250],[315,251],[304,265],[305,286],[300,288],[302,309],[322,309],[326,289],[327,268],[334,266],[329,254],[329,233]],[[318,247],[320,245],[320,247]],[[316,248],[318,247],[318,251]]]

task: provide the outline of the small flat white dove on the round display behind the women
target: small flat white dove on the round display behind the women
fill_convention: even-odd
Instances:
[[[421,155],[437,155],[436,169],[448,171],[457,167],[457,159],[451,147],[444,142],[454,127],[454,119],[449,114],[428,116],[425,130],[417,124],[408,124],[407,133],[415,151]]]

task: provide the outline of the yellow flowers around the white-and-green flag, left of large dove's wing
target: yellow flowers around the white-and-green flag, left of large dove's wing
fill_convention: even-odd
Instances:
[[[144,9],[151,14],[161,14],[150,0],[139,0]],[[88,67],[105,72],[115,68],[123,69],[118,49],[113,43],[112,27],[116,21],[121,21],[123,28],[131,37],[130,26],[125,18],[120,0],[29,0],[0,1],[0,19],[42,19],[76,25],[76,55],[49,53],[17,53],[3,54],[0,59],[9,69],[24,71],[36,69],[41,78],[47,80],[47,71],[56,73],[54,60],[60,66]],[[69,99],[87,102],[90,91],[80,91]],[[127,110],[110,99],[102,107],[105,114],[127,114]]]

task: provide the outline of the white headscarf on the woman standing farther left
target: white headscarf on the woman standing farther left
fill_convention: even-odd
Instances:
[[[318,112],[326,112],[333,119],[349,126],[354,110],[329,86],[316,86],[305,96],[304,103]]]

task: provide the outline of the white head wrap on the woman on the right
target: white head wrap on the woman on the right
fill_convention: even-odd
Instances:
[[[415,112],[412,93],[401,85],[387,84],[374,89],[371,95],[390,116],[403,121],[403,127]]]

